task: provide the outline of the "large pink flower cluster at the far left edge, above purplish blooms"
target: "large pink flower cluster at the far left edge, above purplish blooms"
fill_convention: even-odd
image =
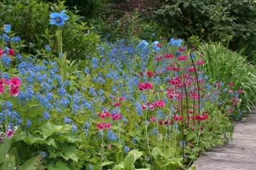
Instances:
[[[0,80],[0,94],[2,94],[5,91],[5,86],[7,88],[10,88],[10,95],[11,96],[17,96],[19,94],[19,86],[21,82],[19,78],[11,78],[9,81],[7,81],[5,78]]]

